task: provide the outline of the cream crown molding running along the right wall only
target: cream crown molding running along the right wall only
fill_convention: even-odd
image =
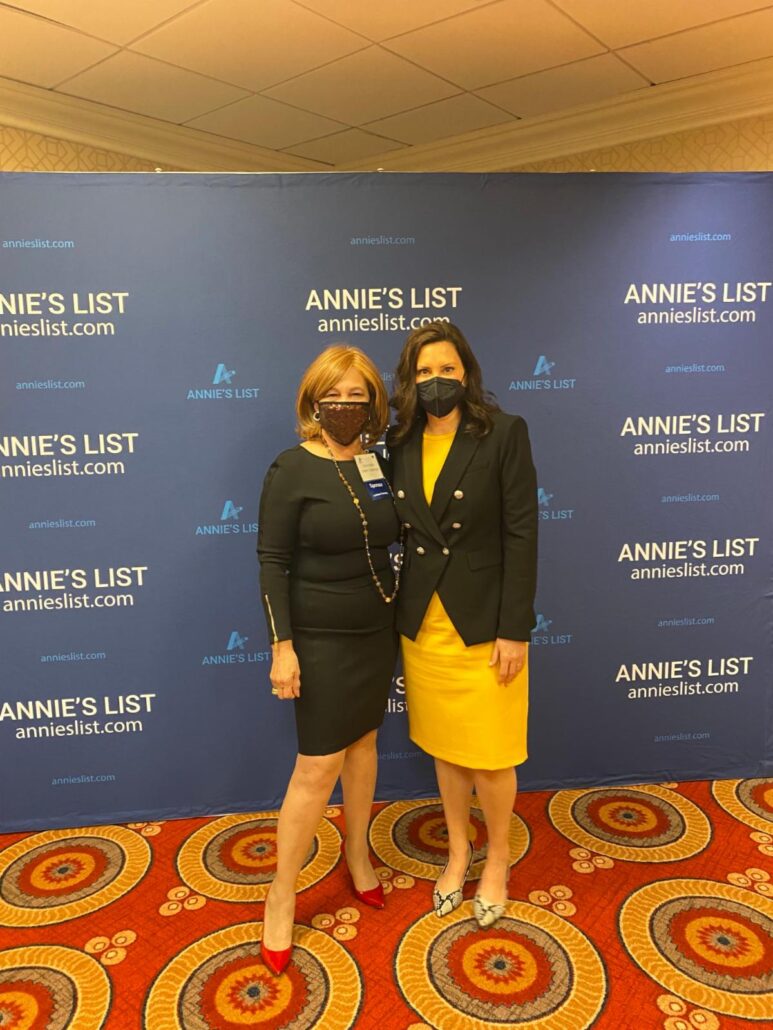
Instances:
[[[651,85],[559,114],[391,150],[347,170],[498,172],[773,111],[773,58]],[[343,166],[337,166],[343,168]]]

